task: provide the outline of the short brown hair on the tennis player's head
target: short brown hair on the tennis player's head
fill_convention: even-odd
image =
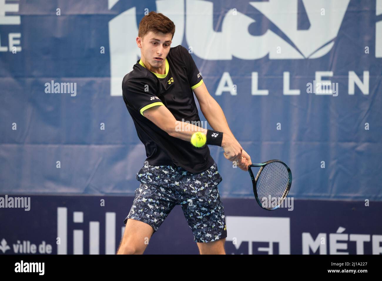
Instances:
[[[147,16],[144,16],[139,23],[138,36],[143,39],[143,37],[152,32],[162,32],[162,33],[171,33],[174,37],[175,33],[175,24],[171,19],[161,13],[155,13],[151,11]]]

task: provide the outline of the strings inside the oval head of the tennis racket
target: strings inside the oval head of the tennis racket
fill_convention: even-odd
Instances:
[[[280,162],[264,166],[257,179],[257,196],[264,208],[273,208],[281,204],[290,182],[286,167]]]

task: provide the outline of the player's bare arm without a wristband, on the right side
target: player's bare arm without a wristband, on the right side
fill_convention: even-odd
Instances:
[[[193,91],[199,102],[200,109],[212,129],[214,129],[214,131],[229,134],[235,138],[230,130],[230,127],[228,126],[227,119],[225,118],[222,108],[220,107],[219,103],[217,103],[216,100],[210,95],[204,82],[200,86],[194,88]],[[249,164],[252,164],[251,157],[249,157],[248,153],[245,152],[244,149],[242,156],[248,160]]]

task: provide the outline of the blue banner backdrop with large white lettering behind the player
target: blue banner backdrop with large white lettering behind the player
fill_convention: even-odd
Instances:
[[[290,166],[291,196],[382,199],[381,0],[0,2],[2,193],[134,193],[146,153],[121,79],[155,10],[176,24],[172,46],[192,53],[252,161]],[[222,197],[253,196],[248,173],[210,150]]]

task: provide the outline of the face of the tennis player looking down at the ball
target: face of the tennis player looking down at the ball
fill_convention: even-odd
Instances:
[[[161,68],[164,65],[165,58],[170,52],[171,37],[171,33],[154,33],[152,31],[143,37],[141,48],[146,64],[149,63],[152,68]]]

